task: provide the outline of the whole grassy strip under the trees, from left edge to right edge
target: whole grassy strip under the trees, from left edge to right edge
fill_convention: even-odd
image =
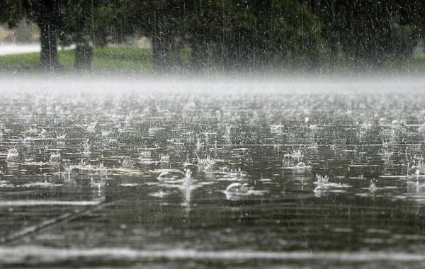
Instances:
[[[74,50],[62,50],[59,52],[60,71],[75,71]],[[181,72],[187,69],[190,59],[190,51],[184,50],[181,55]],[[0,56],[0,71],[10,72],[38,72],[40,53],[27,53],[21,55]],[[371,64],[341,60],[331,67],[329,64],[318,72],[319,74],[423,74],[425,73],[425,56],[416,56],[412,59],[384,62],[378,69],[370,68]],[[185,69],[186,67],[186,69]],[[207,68],[211,72],[222,74],[223,70],[218,68]],[[134,47],[96,47],[94,50],[93,72],[101,74],[152,74],[154,63],[152,51]],[[263,71],[272,74],[311,74],[302,64],[293,65],[283,63],[273,70]],[[223,73],[225,74],[225,73]],[[313,74],[317,74],[313,71]],[[210,74],[213,75],[213,74]]]

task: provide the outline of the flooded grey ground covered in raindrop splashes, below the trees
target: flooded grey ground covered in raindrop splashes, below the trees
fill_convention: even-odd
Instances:
[[[424,268],[424,81],[5,79],[0,264]]]

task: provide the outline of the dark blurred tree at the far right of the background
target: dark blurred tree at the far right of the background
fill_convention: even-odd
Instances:
[[[380,67],[404,59],[417,44],[424,20],[420,0],[316,0],[314,12],[335,62],[341,52],[354,64]]]

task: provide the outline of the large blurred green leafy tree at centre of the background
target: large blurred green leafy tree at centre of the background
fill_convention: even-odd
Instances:
[[[299,64],[302,53],[310,67],[317,65],[320,23],[297,0],[180,1],[176,14],[169,25],[190,47],[193,70],[210,62],[225,70],[254,71],[277,66],[288,55]]]

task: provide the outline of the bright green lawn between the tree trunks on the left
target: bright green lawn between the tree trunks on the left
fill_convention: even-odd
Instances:
[[[59,52],[60,69],[74,71],[74,50]],[[40,53],[0,56],[0,71],[38,71]],[[93,71],[150,72],[153,71],[152,52],[132,47],[96,47]]]

